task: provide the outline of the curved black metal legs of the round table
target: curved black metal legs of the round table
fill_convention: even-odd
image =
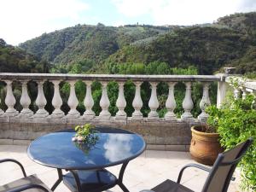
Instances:
[[[119,185],[119,187],[124,191],[124,192],[129,192],[129,190],[125,187],[125,184],[123,183],[123,177],[124,177],[124,173],[125,173],[125,168],[126,166],[128,165],[130,160],[127,160],[123,163],[123,165],[121,166],[121,169],[120,169],[120,172],[119,172],[119,177],[117,179],[117,183]],[[61,168],[56,168],[57,169],[57,172],[58,172],[58,179],[57,181],[54,183],[54,185],[51,187],[51,190],[55,190],[58,185],[61,183],[61,181],[63,181],[63,173],[62,173],[62,169]],[[77,189],[78,189],[78,192],[82,192],[82,189],[81,189],[81,183],[80,183],[80,179],[79,179],[79,175],[77,173],[77,170],[72,170],[72,169],[65,169],[67,172],[71,172],[73,174],[73,177],[76,181],[76,184],[77,184]],[[86,171],[86,170],[84,170]],[[89,170],[87,170],[89,171]]]

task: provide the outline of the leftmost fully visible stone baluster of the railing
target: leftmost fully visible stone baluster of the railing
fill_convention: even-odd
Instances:
[[[6,97],[4,102],[8,107],[7,110],[5,111],[5,114],[9,117],[14,117],[19,112],[15,109],[16,99],[13,93],[12,81],[6,80],[5,82],[6,82]]]

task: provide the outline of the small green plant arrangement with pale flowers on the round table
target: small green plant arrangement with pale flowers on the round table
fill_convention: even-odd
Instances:
[[[96,144],[98,136],[95,126],[91,124],[77,125],[74,130],[76,131],[73,142]]]

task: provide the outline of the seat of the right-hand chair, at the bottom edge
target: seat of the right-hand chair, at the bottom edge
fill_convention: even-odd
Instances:
[[[151,190],[154,192],[194,192],[193,190],[186,188],[179,183],[175,183],[169,179],[155,186]]]

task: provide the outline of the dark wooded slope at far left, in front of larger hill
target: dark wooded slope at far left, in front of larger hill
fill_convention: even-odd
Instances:
[[[35,56],[26,51],[6,44],[0,38],[0,72],[1,73],[47,73],[49,66],[45,61],[37,61]]]

